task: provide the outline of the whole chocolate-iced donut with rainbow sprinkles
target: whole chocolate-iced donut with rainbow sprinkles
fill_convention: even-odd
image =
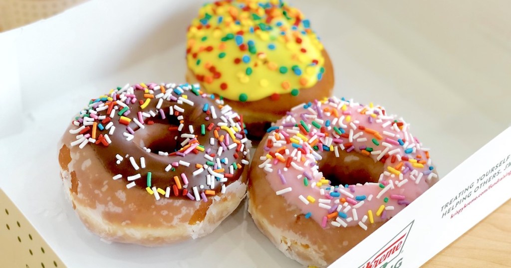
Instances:
[[[74,117],[58,161],[92,233],[158,246],[211,233],[236,209],[249,147],[242,116],[198,85],[127,84]]]

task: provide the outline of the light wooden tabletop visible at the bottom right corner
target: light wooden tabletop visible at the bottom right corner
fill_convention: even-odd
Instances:
[[[511,267],[511,200],[423,267]]]

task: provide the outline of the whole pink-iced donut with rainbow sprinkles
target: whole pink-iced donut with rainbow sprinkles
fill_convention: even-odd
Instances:
[[[332,97],[268,129],[250,164],[248,211],[286,256],[323,267],[437,181],[403,118]]]

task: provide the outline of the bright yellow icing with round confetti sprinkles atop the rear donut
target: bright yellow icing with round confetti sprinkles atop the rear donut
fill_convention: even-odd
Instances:
[[[250,10],[243,10],[246,6]],[[187,62],[208,92],[257,101],[275,93],[296,95],[316,84],[324,72],[322,50],[309,21],[285,3],[216,2],[204,5],[192,21]]]

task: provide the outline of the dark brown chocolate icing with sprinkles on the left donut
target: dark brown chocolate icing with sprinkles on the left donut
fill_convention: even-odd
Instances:
[[[163,85],[161,85],[161,87],[162,86]],[[159,114],[159,109],[156,108],[158,99],[150,99],[151,101],[150,101],[149,105],[147,105],[147,107],[145,107],[144,109],[141,107],[139,100],[142,100],[142,101],[146,100],[146,98],[144,98],[145,92],[144,92],[144,89],[141,90],[141,89],[135,88],[133,94],[136,96],[137,101],[134,104],[129,103],[128,107],[129,107],[130,113],[129,113],[129,115],[126,115],[126,113],[124,114],[124,116],[132,119],[130,121],[130,123],[128,124],[128,126],[120,123],[119,119],[121,116],[118,114],[118,112],[123,107],[116,104],[118,106],[118,109],[115,110],[115,115],[113,116],[113,118],[111,118],[111,122],[113,123],[113,126],[115,126],[114,133],[112,135],[109,135],[109,137],[111,139],[111,143],[108,146],[105,146],[101,142],[97,142],[97,144],[86,144],[86,146],[92,146],[92,148],[94,148],[94,151],[95,151],[97,157],[103,164],[103,168],[105,168],[106,170],[110,170],[112,177],[120,174],[120,175],[122,175],[122,180],[124,180],[126,182],[126,184],[130,183],[127,180],[128,176],[140,174],[141,178],[134,180],[134,182],[138,188],[145,189],[146,187],[148,187],[148,185],[147,185],[148,172],[151,172],[151,187],[155,186],[156,188],[161,188],[161,189],[165,190],[169,186],[171,189],[170,197],[188,199],[188,197],[186,197],[184,195],[185,193],[183,193],[183,190],[185,188],[184,188],[184,182],[181,178],[181,174],[184,174],[188,178],[188,181],[189,181],[189,184],[187,185],[186,189],[189,192],[191,192],[192,195],[193,195],[193,191],[192,191],[193,186],[197,186],[199,192],[203,192],[204,190],[212,189],[212,190],[215,190],[216,193],[218,193],[218,192],[220,192],[222,184],[225,184],[227,186],[228,184],[240,179],[240,176],[241,176],[241,174],[243,172],[243,168],[244,168],[244,164],[241,163],[241,161],[248,157],[248,150],[246,149],[246,147],[244,147],[243,151],[239,151],[240,146],[238,146],[237,148],[230,149],[230,150],[223,150],[223,153],[221,154],[221,156],[219,158],[221,160],[224,158],[227,158],[228,165],[225,165],[222,163],[221,167],[215,166],[216,168],[225,168],[225,172],[218,172],[218,173],[220,173],[220,174],[229,173],[229,165],[231,165],[235,162],[240,164],[241,168],[235,169],[232,177],[230,177],[230,178],[226,177],[226,179],[227,179],[226,182],[221,183],[220,181],[216,180],[213,188],[211,188],[209,185],[206,185],[206,174],[208,174],[208,170],[206,170],[205,163],[206,163],[206,161],[209,161],[209,160],[204,158],[204,155],[206,154],[208,149],[211,149],[209,154],[211,156],[214,156],[213,162],[216,163],[216,159],[218,157],[218,156],[216,156],[216,154],[217,154],[219,147],[222,147],[222,145],[220,144],[220,141],[218,138],[216,138],[214,144],[211,145],[210,138],[214,137],[214,130],[218,131],[219,136],[222,136],[222,135],[225,135],[225,137],[229,136],[229,133],[226,130],[220,129],[218,124],[224,123],[224,121],[221,119],[221,116],[223,114],[229,113],[230,108],[224,107],[224,113],[222,113],[221,112],[222,106],[219,105],[218,103],[223,103],[223,102],[219,101],[218,99],[216,101],[213,101],[211,99],[211,95],[206,95],[206,94],[197,95],[199,93],[198,86],[196,86],[195,87],[196,90],[194,90],[197,94],[194,93],[192,90],[189,90],[191,87],[188,87],[187,85],[181,85],[178,87],[180,87],[184,91],[180,95],[175,93],[173,91],[173,88],[167,89],[167,92],[173,91],[172,96],[174,96],[175,98],[173,98],[172,96],[168,96],[167,100],[163,100],[163,102],[161,104],[160,108],[165,113],[165,116],[166,116],[165,119],[162,118],[162,116]],[[151,86],[151,88],[152,88],[152,86]],[[117,91],[118,90],[116,90],[114,92],[117,92]],[[158,93],[160,93],[159,90],[154,91],[154,95],[157,95]],[[113,96],[114,94],[117,94],[114,99],[119,100],[120,95],[118,93],[112,93],[110,96]],[[186,95],[189,101],[194,102],[194,105],[190,106],[187,103],[179,104],[177,98],[179,98],[179,96],[183,96],[183,95]],[[174,100],[170,100],[170,98],[172,98]],[[106,104],[106,103],[109,103],[109,101],[103,101],[103,102],[99,101],[99,103]],[[211,110],[209,108],[207,109],[207,112],[203,111],[203,107],[205,104],[207,104],[210,107],[211,106],[215,107],[216,114],[217,114],[218,118],[214,119],[212,117]],[[184,111],[177,112],[174,108],[172,108],[174,111],[174,114],[169,114],[170,109],[171,109],[170,107],[174,107],[174,105],[177,105],[177,106],[183,108]],[[91,106],[92,106],[92,108],[97,107],[97,105],[95,105],[94,103],[91,104]],[[90,109],[92,109],[92,108],[90,108]],[[138,112],[149,113],[149,111],[155,112],[156,116],[145,117],[144,118],[145,128],[142,129],[142,128],[138,127],[137,124],[135,124],[133,118],[138,119],[138,116],[137,116]],[[97,115],[98,116],[106,115],[108,118],[109,116],[108,116],[107,112],[108,112],[108,110],[98,111]],[[181,121],[182,121],[182,124],[184,125],[182,127],[181,131],[177,130],[177,127],[180,125],[180,120],[178,119],[178,116],[182,116]],[[224,117],[227,118],[227,116],[224,116]],[[233,115],[231,115],[231,117],[233,117],[233,121],[235,123],[239,123],[239,125],[242,125],[242,121],[240,121],[241,118],[239,116],[237,116],[237,114],[233,113]],[[101,123],[102,120],[96,119],[95,121],[98,123]],[[150,121],[152,121],[154,124],[151,124]],[[211,129],[211,131],[208,131],[207,127],[211,123],[213,123],[214,126]],[[103,124],[103,126],[106,126],[107,124]],[[185,156],[179,156],[179,155],[175,154],[174,150],[172,150],[172,151],[169,150],[168,153],[170,155],[166,156],[166,155],[159,155],[157,151],[154,151],[154,149],[151,152],[147,152],[144,148],[141,147],[141,144],[136,143],[136,142],[144,143],[144,142],[147,142],[147,140],[149,139],[149,143],[146,144],[146,146],[148,146],[150,149],[152,147],[151,145],[156,144],[155,147],[160,148],[160,149],[162,147],[166,147],[166,148],[175,149],[176,151],[178,151],[182,148],[180,143],[186,139],[184,137],[181,137],[181,134],[190,134],[189,125],[193,126],[193,130],[194,130],[193,134],[196,135],[196,138],[199,141],[199,144],[204,146],[204,148],[205,148],[204,152],[194,149]],[[206,128],[205,135],[201,134],[201,125],[205,125],[205,128]],[[164,127],[162,127],[162,126],[164,126]],[[231,122],[227,121],[227,127],[232,127],[232,126],[233,125],[231,124]],[[92,129],[92,126],[89,126],[89,127],[90,127],[90,129]],[[134,138],[133,140],[127,140],[126,136],[124,136],[124,134],[123,134],[125,132],[129,133],[129,131],[127,130],[127,127],[130,127],[134,131],[133,135],[136,138]],[[78,127],[76,127],[76,128],[78,128]],[[231,128],[231,129],[233,129],[233,128]],[[162,131],[165,131],[165,132],[162,132]],[[99,129],[97,129],[97,136],[99,136],[100,134],[103,134],[103,135],[108,134],[108,132],[109,132],[109,130],[106,130],[106,129],[103,131],[100,131]],[[91,131],[88,131],[86,133],[91,133]],[[84,134],[86,134],[86,133],[84,133]],[[241,140],[245,137],[244,131],[240,131],[238,129],[238,131],[235,133],[241,135],[241,138],[239,138],[240,136],[238,136],[237,140]],[[78,135],[78,134],[68,134],[68,135]],[[140,136],[148,136],[148,137],[140,138]],[[166,137],[166,139],[163,141],[159,140],[158,138],[155,138],[155,137],[162,137],[162,136]],[[225,142],[226,139],[228,139],[230,141],[229,144],[233,143],[233,139],[230,136],[228,138],[224,138],[223,141]],[[187,145],[187,144],[185,144],[185,145]],[[78,146],[78,145],[76,145],[76,146]],[[116,163],[118,161],[118,159],[115,157],[117,154],[119,154],[123,157],[123,160],[119,164]],[[140,167],[138,170],[135,170],[135,168],[133,167],[133,165],[130,162],[129,157],[134,158],[136,164]],[[141,157],[145,158],[145,168],[142,168],[142,166],[141,166]],[[165,171],[165,168],[169,164],[172,164],[173,162],[179,162],[179,160],[189,162],[190,166],[187,167],[187,166],[179,164],[178,166],[173,166],[175,168],[174,171],[172,171],[172,170],[169,170],[169,172]],[[199,169],[198,167],[196,167],[196,164],[204,165],[204,171],[201,174],[194,176],[193,172],[195,170]],[[215,167],[212,166],[212,169],[215,169]],[[98,167],[90,167],[90,168],[98,168]],[[174,181],[175,176],[178,177],[179,183],[182,186],[182,189],[178,190],[179,193],[178,193],[177,197],[174,196],[174,191],[173,191],[173,185],[176,185],[176,182]],[[227,176],[229,176],[229,175],[227,175]],[[212,176],[212,179],[213,178],[214,177]],[[105,178],[105,179],[112,179],[112,178]],[[203,189],[200,188],[201,185],[203,185]],[[98,185],[98,187],[100,187],[100,185]]]

